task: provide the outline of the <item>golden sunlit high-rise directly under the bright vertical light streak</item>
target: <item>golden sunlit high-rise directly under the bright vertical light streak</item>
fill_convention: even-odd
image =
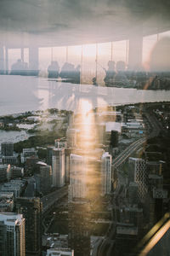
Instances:
[[[71,154],[69,201],[81,201],[87,197],[87,160],[84,156]]]

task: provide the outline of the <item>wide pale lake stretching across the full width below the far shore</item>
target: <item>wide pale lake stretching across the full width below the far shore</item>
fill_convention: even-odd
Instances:
[[[170,100],[170,90],[136,90],[70,84],[22,76],[0,76],[0,115],[59,108],[77,111],[81,102],[91,108]]]

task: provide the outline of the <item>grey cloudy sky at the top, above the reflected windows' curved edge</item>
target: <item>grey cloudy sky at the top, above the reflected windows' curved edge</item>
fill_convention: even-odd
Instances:
[[[0,32],[8,44],[102,43],[165,29],[169,11],[168,0],[0,0]]]

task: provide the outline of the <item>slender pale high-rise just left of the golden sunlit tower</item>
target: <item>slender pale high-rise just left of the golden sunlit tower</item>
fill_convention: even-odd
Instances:
[[[65,148],[54,148],[52,156],[53,186],[65,185]]]

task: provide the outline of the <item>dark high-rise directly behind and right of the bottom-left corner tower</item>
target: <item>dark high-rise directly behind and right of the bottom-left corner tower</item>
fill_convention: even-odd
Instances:
[[[26,218],[26,256],[41,255],[42,248],[42,203],[39,198],[19,197],[16,211]]]

